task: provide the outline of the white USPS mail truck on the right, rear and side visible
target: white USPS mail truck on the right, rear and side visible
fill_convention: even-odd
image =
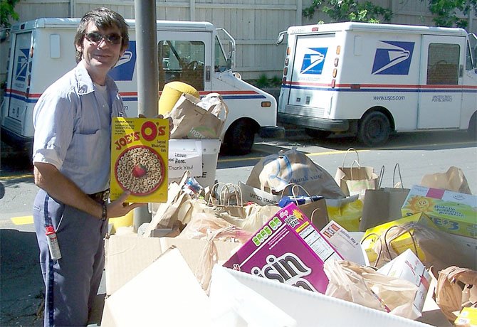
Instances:
[[[278,122],[311,136],[468,129],[476,137],[476,36],[461,28],[329,23],[293,26]]]

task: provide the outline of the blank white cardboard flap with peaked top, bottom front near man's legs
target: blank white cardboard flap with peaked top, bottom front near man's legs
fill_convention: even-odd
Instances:
[[[211,326],[210,301],[181,252],[164,252],[105,299],[101,326]]]

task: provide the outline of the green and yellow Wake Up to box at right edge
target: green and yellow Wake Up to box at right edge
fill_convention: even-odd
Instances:
[[[412,186],[402,205],[402,215],[425,213],[440,230],[477,237],[477,195]]]

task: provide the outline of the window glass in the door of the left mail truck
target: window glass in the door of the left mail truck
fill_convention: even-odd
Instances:
[[[204,90],[205,44],[201,41],[159,41],[157,45],[159,90],[178,80]]]

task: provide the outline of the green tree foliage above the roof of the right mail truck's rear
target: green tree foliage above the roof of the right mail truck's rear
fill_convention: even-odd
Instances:
[[[332,22],[362,21],[380,23],[391,20],[392,11],[376,6],[371,1],[356,0],[313,0],[311,6],[303,9],[303,16],[312,17],[316,10],[330,16]]]

